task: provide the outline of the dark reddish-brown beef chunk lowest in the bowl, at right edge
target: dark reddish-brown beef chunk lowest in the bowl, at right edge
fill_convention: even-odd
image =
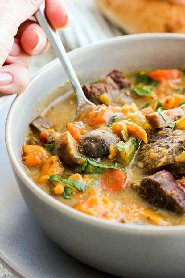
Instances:
[[[185,212],[185,193],[173,175],[165,170],[142,179],[137,191],[156,207],[178,213]]]

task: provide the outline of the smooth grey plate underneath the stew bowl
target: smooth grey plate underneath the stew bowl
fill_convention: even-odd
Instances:
[[[81,263],[41,230],[28,210],[11,170],[4,140],[6,115],[0,111],[0,262],[22,278],[113,278]]]

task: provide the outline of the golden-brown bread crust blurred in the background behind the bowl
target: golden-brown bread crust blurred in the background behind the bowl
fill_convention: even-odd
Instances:
[[[129,34],[185,33],[185,0],[95,0],[102,13]]]

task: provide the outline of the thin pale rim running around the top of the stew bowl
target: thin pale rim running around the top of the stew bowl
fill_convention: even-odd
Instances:
[[[76,48],[70,52],[68,52],[68,56],[74,55],[75,53],[78,53],[80,51],[83,51],[88,48],[96,48],[99,47],[99,45],[103,44],[111,44],[115,41],[120,41],[120,40],[142,40],[146,38],[151,38],[151,39],[184,39],[185,40],[185,34],[169,34],[169,33],[148,33],[148,34],[134,34],[134,35],[125,35],[125,36],[118,36],[118,37],[113,37],[105,40],[101,40],[95,43],[91,43],[85,46],[82,46],[80,48]],[[19,104],[19,99],[23,98],[24,95],[26,94],[27,90],[29,90],[29,87],[35,82],[37,78],[39,78],[40,75],[44,74],[48,69],[55,67],[56,65],[59,65],[60,61],[58,58],[55,60],[51,61],[44,67],[42,67],[38,72],[35,73],[35,75],[31,78],[31,81],[25,91],[24,94],[17,95],[16,98],[14,99],[10,110],[8,112],[8,116],[6,119],[6,126],[5,126],[5,141],[6,141],[6,148],[8,152],[8,156],[10,159],[10,162],[18,174],[19,178],[24,182],[24,184],[32,191],[34,194],[37,195],[40,199],[42,199],[44,202],[47,202],[48,205],[51,205],[55,207],[55,209],[64,212],[71,217],[76,217],[80,221],[85,221],[88,222],[88,224],[91,225],[97,225],[97,226],[103,226],[106,229],[114,229],[114,230],[121,230],[121,231],[129,231],[130,233],[145,233],[147,231],[148,233],[151,234],[171,234],[171,233],[182,233],[185,231],[185,225],[178,225],[178,226],[146,226],[146,225],[136,225],[136,224],[125,224],[125,223],[120,223],[120,222],[114,222],[106,219],[101,219],[95,216],[88,215],[86,213],[80,212],[72,207],[69,207],[66,204],[63,204],[62,202],[56,200],[54,197],[48,195],[46,192],[44,192],[41,188],[39,188],[26,174],[26,171],[21,168],[19,165],[19,162],[16,160],[16,157],[14,155],[12,145],[11,145],[11,137],[10,137],[10,129],[11,129],[11,119],[14,114],[14,111],[16,110],[17,105]]]

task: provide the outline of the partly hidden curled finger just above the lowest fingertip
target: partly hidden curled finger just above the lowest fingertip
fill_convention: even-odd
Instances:
[[[14,38],[12,50],[10,51],[8,57],[5,60],[6,65],[15,63],[21,64],[25,66],[27,69],[31,65],[31,56],[23,50],[20,40],[17,38]]]

